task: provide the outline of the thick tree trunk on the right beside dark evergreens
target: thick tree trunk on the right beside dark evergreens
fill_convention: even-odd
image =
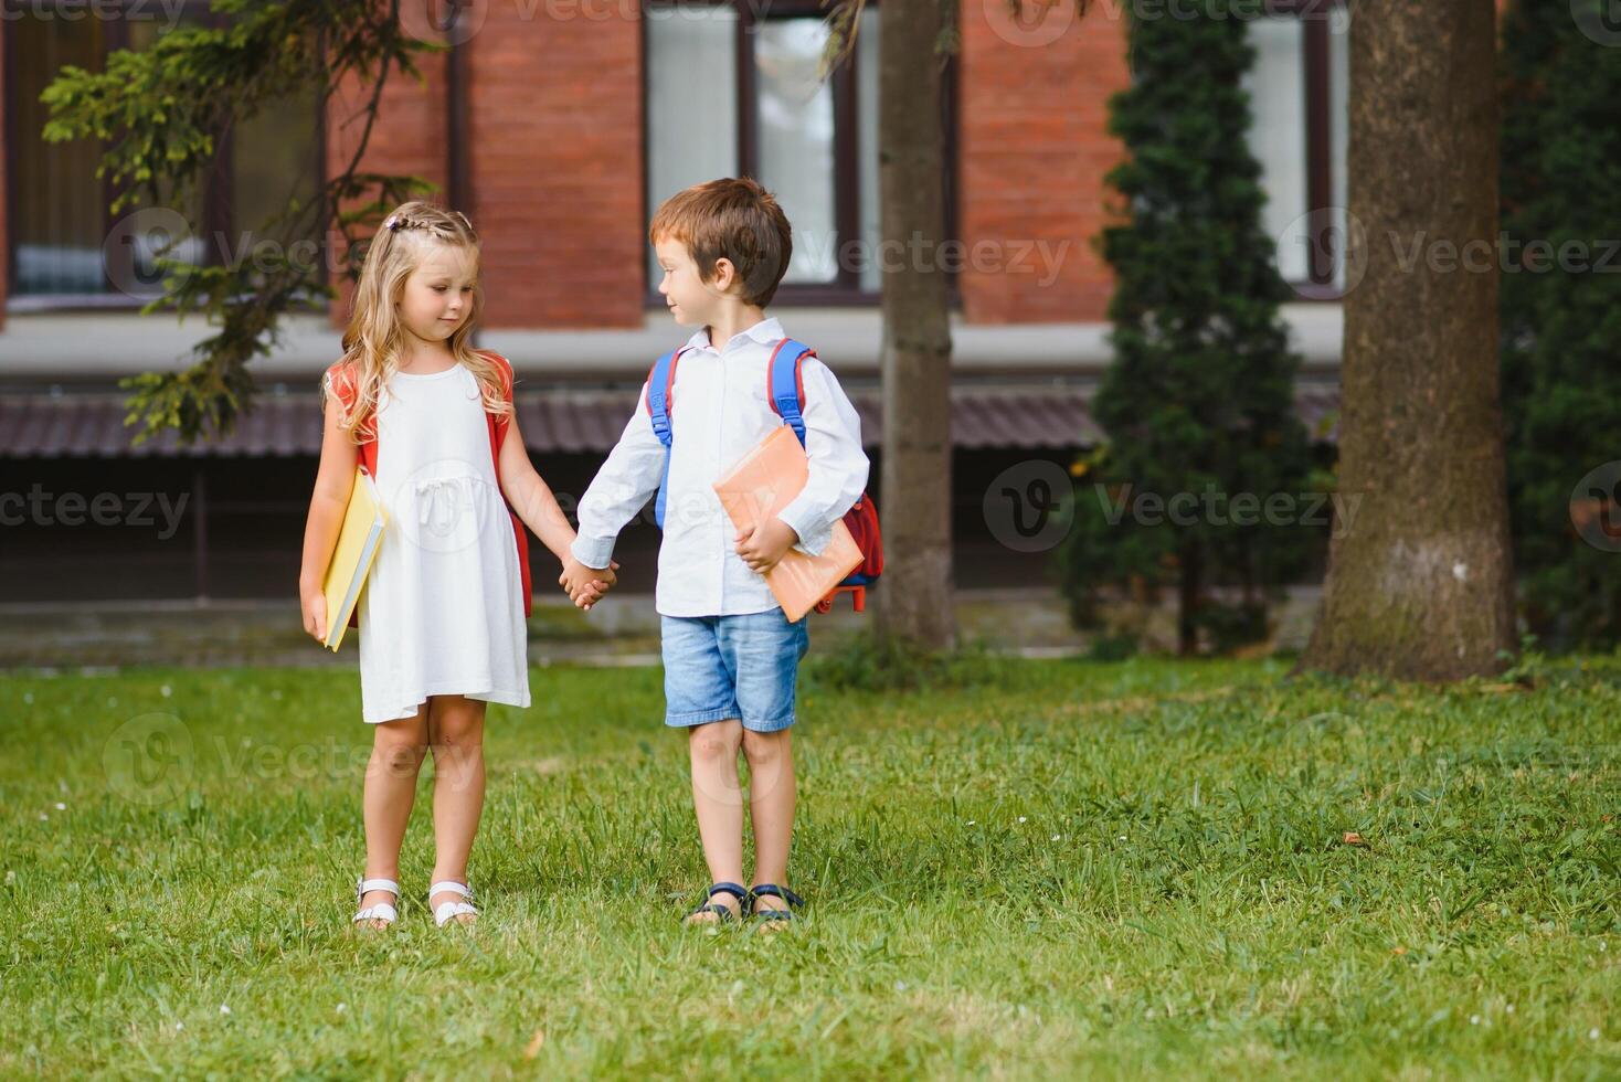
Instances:
[[[1514,650],[1514,580],[1498,390],[1496,5],[1362,0],[1350,34],[1339,491],[1357,513],[1331,541],[1298,669],[1498,672],[1498,651]]]

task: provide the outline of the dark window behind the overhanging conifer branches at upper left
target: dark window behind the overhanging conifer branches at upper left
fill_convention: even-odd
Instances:
[[[160,293],[152,258],[164,233],[160,219],[118,215],[117,194],[96,177],[101,147],[89,141],[45,143],[49,110],[39,102],[63,65],[101,70],[107,53],[148,49],[172,26],[170,5],[131,8],[125,18],[91,18],[81,5],[53,11],[32,6],[8,21],[5,34],[6,164],[11,183],[10,306],[135,306]],[[211,23],[224,16],[206,3],[183,0],[178,21]],[[173,209],[191,238],[169,254],[193,262],[225,262],[251,256],[254,236],[290,196],[308,202],[321,191],[324,160],[318,89],[310,87],[264,109],[216,143],[219,157],[201,178],[190,206]],[[149,207],[148,207],[149,209]],[[277,241],[313,240],[277,236]]]

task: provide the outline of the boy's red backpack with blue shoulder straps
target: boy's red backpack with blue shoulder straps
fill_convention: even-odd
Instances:
[[[653,421],[653,434],[658,436],[658,442],[665,445],[666,452],[673,439],[669,431],[669,408],[674,405],[674,395],[671,390],[676,386],[676,361],[681,360],[682,351],[671,350],[665,353],[653,361],[653,368],[647,373],[647,413]],[[804,342],[783,339],[776,343],[776,350],[772,351],[772,360],[765,368],[765,397],[770,400],[772,408],[776,410],[776,415],[783,418],[783,424],[794,429],[801,447],[806,442],[806,382],[801,364],[807,356],[815,356],[815,350]],[[666,455],[665,476],[658,481],[658,499],[653,504],[653,517],[658,520],[660,528],[665,526],[665,489],[668,484],[669,457]],[[862,560],[845,581],[833,588],[833,593],[817,603],[817,612],[828,612],[833,607],[833,599],[841,593],[851,596],[856,612],[864,612],[867,607],[867,586],[883,573],[883,538],[879,535],[879,509],[872,504],[870,496],[862,492],[854,507],[845,512],[845,528],[849,530],[856,547],[861,549]]]

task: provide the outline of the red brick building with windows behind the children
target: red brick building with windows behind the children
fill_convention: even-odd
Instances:
[[[718,175],[759,177],[794,220],[796,258],[772,313],[819,347],[879,450],[877,2],[851,63],[827,81],[815,78],[822,13],[802,0],[480,0],[454,53],[426,58],[423,83],[391,76],[363,167],[443,185],[483,233],[480,343],[512,358],[530,450],[559,491],[584,488],[650,358],[686,337],[652,292],[652,209]],[[1300,6],[1279,3],[1250,26],[1253,144],[1271,190],[1266,222],[1300,290],[1285,317],[1315,420],[1334,400],[1334,267],[1297,251],[1289,227],[1344,204],[1345,28],[1300,18]],[[128,262],[139,240],[125,243],[126,222],[107,212],[97,147],[42,143],[37,96],[65,63],[96,68],[109,50],[149,45],[170,10],[214,16],[193,0],[107,10],[115,16],[71,19],[36,5],[0,23],[0,594],[290,596],[319,445],[314,384],[337,355],[344,305],[290,321],[276,355],[256,363],[263,395],[232,437],[128,445],[117,379],[180,366],[203,329],[136,314],[141,277]],[[1046,557],[1007,552],[987,533],[986,486],[1021,460],[1067,463],[1097,436],[1086,403],[1109,360],[1110,275],[1093,241],[1110,220],[1104,177],[1120,155],[1107,99],[1128,79],[1114,2],[1084,19],[1067,0],[1024,19],[1005,0],[961,5],[945,117],[955,243],[940,258],[961,264],[953,442],[964,586],[1041,581]],[[368,89],[344,87],[324,113],[314,97],[282,102],[225,138],[186,209],[224,245],[203,241],[196,254],[243,249],[285,193],[340,172]],[[63,513],[63,496],[112,494],[128,510],[159,492],[170,505],[186,497],[169,536],[128,513],[117,528]],[[632,535],[627,552],[650,551],[652,526]],[[626,560],[637,564],[631,581],[645,585],[652,560]]]

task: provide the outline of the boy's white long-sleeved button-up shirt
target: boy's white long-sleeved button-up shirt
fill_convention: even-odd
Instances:
[[[785,337],[776,319],[762,319],[716,350],[705,327],[687,340],[676,363],[655,591],[663,616],[742,616],[778,607],[765,578],[738,556],[736,526],[712,486],[783,423],[772,408],[767,366]],[[806,356],[801,376],[809,476],[778,518],[799,535],[796,547],[815,556],[827,547],[833,523],[861,497],[867,455],[861,450],[861,416],[827,364]],[[572,546],[580,564],[608,567],[619,530],[658,491],[663,471],[665,445],[653,434],[644,382],[635,415],[580,497]]]

